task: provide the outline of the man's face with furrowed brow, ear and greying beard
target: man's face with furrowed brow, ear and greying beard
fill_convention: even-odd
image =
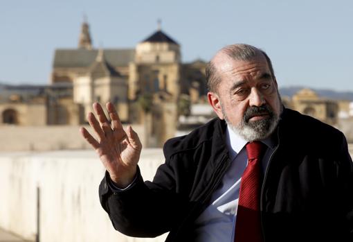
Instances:
[[[248,141],[269,137],[282,110],[278,86],[263,55],[239,61],[219,53],[213,59],[221,78],[208,101],[220,119]]]

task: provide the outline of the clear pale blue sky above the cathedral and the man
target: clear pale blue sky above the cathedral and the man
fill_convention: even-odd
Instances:
[[[349,0],[1,1],[0,82],[48,84],[55,49],[77,47],[85,14],[95,47],[134,48],[161,19],[184,62],[253,44],[282,87],[353,91],[352,12]]]

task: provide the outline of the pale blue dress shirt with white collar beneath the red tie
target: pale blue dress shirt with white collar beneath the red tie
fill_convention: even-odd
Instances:
[[[248,164],[245,145],[242,139],[228,126],[226,142],[229,157],[232,161],[228,171],[212,194],[210,205],[194,222],[195,238],[198,242],[233,242],[235,234],[235,221],[237,218],[237,205],[239,200],[240,182],[242,174]],[[262,168],[266,171],[269,158],[275,148],[275,140],[268,138],[262,143],[266,144],[266,152],[262,158]]]

